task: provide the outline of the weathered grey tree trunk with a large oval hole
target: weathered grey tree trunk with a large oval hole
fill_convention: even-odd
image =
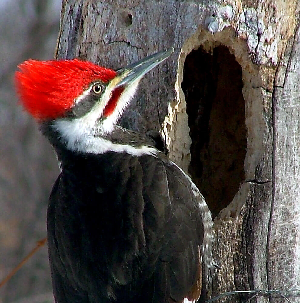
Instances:
[[[299,1],[219,2],[63,1],[56,58],[116,69],[175,47],[142,80],[120,123],[160,131],[170,158],[205,196],[217,264],[207,298],[297,288]],[[276,296],[252,302],[286,302]]]

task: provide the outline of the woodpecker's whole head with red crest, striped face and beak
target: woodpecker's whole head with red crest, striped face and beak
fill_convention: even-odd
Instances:
[[[27,112],[72,145],[112,132],[143,75],[173,51],[116,71],[77,59],[28,60],[18,65],[16,90]]]

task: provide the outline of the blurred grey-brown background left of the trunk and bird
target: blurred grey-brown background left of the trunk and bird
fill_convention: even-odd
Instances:
[[[0,280],[46,236],[48,196],[58,175],[51,146],[17,105],[18,63],[53,59],[61,0],[0,0]],[[0,303],[53,302],[44,245],[0,288]]]

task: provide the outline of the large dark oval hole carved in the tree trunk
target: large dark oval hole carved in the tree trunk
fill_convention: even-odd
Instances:
[[[245,178],[242,68],[227,47],[200,47],[186,57],[181,87],[192,139],[189,172],[215,218]]]

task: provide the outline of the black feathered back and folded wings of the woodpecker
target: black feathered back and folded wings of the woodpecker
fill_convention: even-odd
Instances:
[[[73,155],[48,207],[55,302],[197,298],[199,199],[175,165],[150,155]]]

